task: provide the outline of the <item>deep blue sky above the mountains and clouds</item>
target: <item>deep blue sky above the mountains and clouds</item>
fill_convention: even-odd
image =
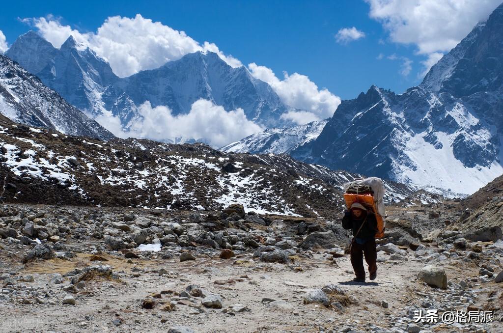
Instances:
[[[431,5],[427,4],[428,0],[416,2],[422,3],[421,6]],[[307,75],[320,89],[327,88],[342,99],[355,98],[372,84],[401,93],[421,82],[421,73],[425,70],[422,61],[432,54],[439,57],[439,52],[446,52],[456,41],[444,43],[447,46],[437,41],[441,46],[430,47],[428,36],[417,37],[421,34],[413,29],[406,31],[408,36],[403,36],[397,30],[400,27],[390,22],[393,15],[398,19],[400,15],[407,17],[403,12],[406,9],[402,8],[406,6],[395,6],[391,14],[374,13],[371,17],[371,3],[376,13],[386,5],[384,0],[8,2],[0,12],[0,30],[10,45],[31,28],[20,18],[52,16],[62,25],[85,33],[96,32],[108,17],[133,18],[141,14],[143,18],[183,30],[200,43],[215,43],[223,53],[243,64],[255,62],[267,66],[280,78],[283,71]],[[476,23],[487,16],[495,8],[494,3],[485,1],[487,9],[474,14],[472,21]],[[447,13],[450,10],[454,11],[453,15],[455,11],[472,11],[467,6],[448,7]],[[439,10],[433,8],[429,14],[433,19],[435,11]],[[416,23],[412,21],[412,28],[421,29],[417,22],[425,19],[419,17]],[[459,22],[460,27],[465,27],[456,29],[454,40],[459,41],[471,30],[466,26],[473,26],[472,21]],[[352,27],[365,37],[337,42],[338,31]],[[439,26],[439,29],[442,28]],[[435,31],[431,36],[436,38]]]

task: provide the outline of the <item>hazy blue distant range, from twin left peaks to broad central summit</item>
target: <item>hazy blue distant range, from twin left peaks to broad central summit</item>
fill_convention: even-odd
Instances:
[[[126,78],[117,77],[104,59],[71,36],[57,49],[28,32],[6,55],[88,115],[111,112],[125,130],[141,117],[137,108],[146,101],[178,115],[188,113],[199,99],[227,111],[241,108],[248,120],[265,127],[291,125],[280,116],[292,108],[266,82],[253,77],[244,66],[232,68],[213,52],[190,53]]]

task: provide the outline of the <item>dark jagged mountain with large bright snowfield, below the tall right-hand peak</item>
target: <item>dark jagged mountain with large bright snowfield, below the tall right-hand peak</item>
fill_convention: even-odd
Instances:
[[[501,100],[498,94],[486,97]],[[291,154],[334,169],[470,194],[503,173],[501,116],[486,119],[486,110],[479,111],[498,105],[473,96],[438,97],[421,87],[401,95],[371,87],[343,101],[318,138]]]

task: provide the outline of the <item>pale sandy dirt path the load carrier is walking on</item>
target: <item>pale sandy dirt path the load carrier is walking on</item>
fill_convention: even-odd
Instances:
[[[43,289],[50,280],[49,273],[64,275],[75,267],[91,264],[89,257],[79,255],[71,261],[45,261],[24,269],[20,274],[33,275],[35,281],[31,287]],[[74,306],[62,306],[59,302],[55,305],[4,306],[4,328],[17,331],[19,326],[13,326],[12,322],[28,326],[31,323],[37,331],[165,331],[172,325],[187,325],[197,332],[319,331],[345,325],[364,329],[369,323],[389,327],[390,316],[398,316],[404,305],[418,302],[421,296],[417,292],[431,289],[416,281],[423,265],[411,258],[398,264],[380,263],[378,279],[360,284],[348,282],[353,278],[348,257],[336,260],[339,267],[331,260],[323,259],[321,254],[316,257],[285,266],[257,263],[251,256],[183,263],[177,260],[134,260],[134,264],[127,264],[124,258],[105,255],[103,258],[109,261],[103,264],[125,273],[121,282],[98,280],[86,283],[86,287],[76,294]],[[156,271],[161,268],[169,274],[159,276]],[[448,266],[447,269],[448,276],[452,277],[461,271],[459,267]],[[133,277],[132,273],[138,270],[146,272]],[[153,272],[149,273],[149,270]],[[466,268],[463,270],[466,275]],[[469,271],[473,273],[473,270]],[[237,282],[215,284],[215,281],[236,278]],[[159,300],[169,300],[173,295],[170,291],[181,292],[191,284],[221,295],[224,308],[240,303],[251,311],[229,315],[220,309],[204,307],[204,312],[199,313],[194,307],[181,304],[172,312],[161,310],[161,306],[150,310],[139,307],[140,300],[148,295],[162,293]],[[318,304],[302,304],[305,290],[327,284],[340,286],[347,295],[354,296],[356,304],[344,312]],[[56,286],[51,293],[58,294],[59,288]],[[286,302],[271,307],[262,302],[263,298]],[[389,308],[381,306],[382,300],[389,302]],[[122,323],[115,326],[113,320],[117,318]]]

